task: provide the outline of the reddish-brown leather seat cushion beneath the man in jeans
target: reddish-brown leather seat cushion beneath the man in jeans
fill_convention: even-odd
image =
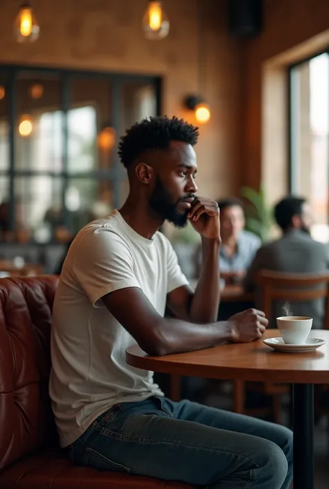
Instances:
[[[75,467],[58,452],[40,452],[8,467],[0,474],[1,489],[192,489],[166,482],[89,467]]]

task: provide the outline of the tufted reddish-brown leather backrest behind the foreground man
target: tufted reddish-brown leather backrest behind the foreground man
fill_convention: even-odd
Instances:
[[[53,275],[0,280],[0,470],[58,443],[48,395],[57,285]]]

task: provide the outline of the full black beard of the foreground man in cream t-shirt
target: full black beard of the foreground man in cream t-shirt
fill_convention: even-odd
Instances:
[[[176,228],[185,228],[187,225],[189,209],[186,209],[185,212],[179,212],[178,204],[185,198],[189,197],[194,197],[194,194],[185,195],[173,203],[171,194],[169,191],[167,191],[167,189],[165,189],[160,178],[157,176],[155,187],[149,200],[149,205],[151,209],[153,209],[153,211],[155,211],[158,216],[165,221],[169,221],[170,223],[174,224]]]

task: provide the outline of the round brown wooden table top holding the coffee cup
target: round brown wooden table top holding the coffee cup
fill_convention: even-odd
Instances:
[[[264,334],[264,338],[276,336],[280,336],[278,329],[267,329]],[[126,362],[144,370],[191,377],[329,384],[329,330],[314,329],[310,336],[322,338],[326,344],[314,352],[282,353],[258,340],[165,357],[149,357],[134,345],[126,351]]]

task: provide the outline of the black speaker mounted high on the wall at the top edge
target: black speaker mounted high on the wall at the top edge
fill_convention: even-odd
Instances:
[[[253,37],[262,30],[262,0],[226,0],[228,31],[235,37]]]

